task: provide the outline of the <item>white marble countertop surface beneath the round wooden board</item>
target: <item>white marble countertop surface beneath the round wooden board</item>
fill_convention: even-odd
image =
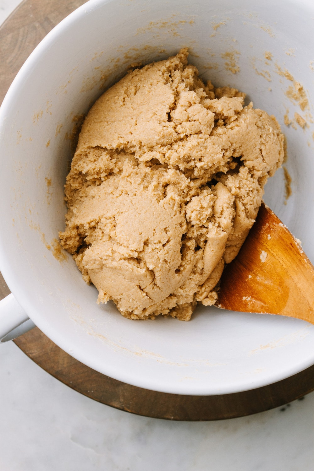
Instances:
[[[20,0],[0,0],[0,23]],[[0,345],[1,471],[313,471],[314,393],[222,422],[170,422],[99,404]]]

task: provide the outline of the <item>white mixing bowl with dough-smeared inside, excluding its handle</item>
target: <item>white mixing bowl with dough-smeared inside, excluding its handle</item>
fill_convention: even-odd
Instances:
[[[248,390],[314,363],[314,326],[297,319],[215,307],[198,307],[188,323],[126,319],[112,303],[96,304],[58,243],[82,116],[130,65],[188,47],[204,80],[246,92],[280,122],[287,161],[264,201],[313,262],[313,14],[306,1],[92,0],[35,49],[0,112],[0,268],[62,349],[120,381],[179,394]]]

